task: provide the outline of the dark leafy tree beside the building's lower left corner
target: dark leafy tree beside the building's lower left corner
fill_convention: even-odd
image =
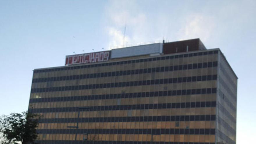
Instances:
[[[0,118],[0,133],[2,133],[4,143],[8,144],[35,144],[37,138],[36,127],[40,115],[27,111],[3,115]]]

